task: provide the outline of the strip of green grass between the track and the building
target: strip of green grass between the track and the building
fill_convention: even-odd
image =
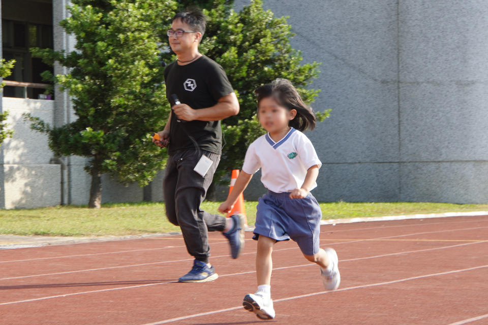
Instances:
[[[204,202],[202,209],[217,213],[220,202]],[[254,224],[257,202],[246,202],[248,223]],[[323,219],[375,217],[418,213],[488,211],[488,204],[447,203],[321,203]],[[168,222],[164,203],[104,204],[101,209],[58,206],[0,210],[0,234],[44,236],[125,236],[178,232]]]

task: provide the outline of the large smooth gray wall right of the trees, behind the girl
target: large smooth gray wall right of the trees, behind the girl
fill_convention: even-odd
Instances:
[[[324,164],[319,201],[488,202],[487,2],[264,8],[290,16],[304,62],[322,62],[313,107],[332,115],[307,134]]]

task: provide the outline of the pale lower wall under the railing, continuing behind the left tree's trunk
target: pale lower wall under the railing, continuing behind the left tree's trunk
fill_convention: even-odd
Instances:
[[[53,159],[46,135],[32,131],[22,117],[22,114],[30,113],[53,124],[54,101],[3,98],[2,104],[3,109],[9,111],[7,123],[14,136],[6,139],[0,147],[3,153],[0,156],[0,209],[56,206],[62,202],[86,205],[91,180],[83,170],[86,159],[76,156],[69,157],[69,160],[64,158],[63,163],[68,161],[70,165],[63,169],[58,160]],[[103,203],[143,200],[143,190],[137,184],[126,187],[103,175],[102,186]],[[155,190],[154,200],[162,200],[161,191]]]

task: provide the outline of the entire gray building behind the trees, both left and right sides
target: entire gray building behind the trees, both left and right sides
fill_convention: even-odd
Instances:
[[[236,10],[249,3],[236,0]],[[2,0],[2,56],[22,62],[8,79],[42,82],[39,72],[49,67],[30,57],[30,46],[73,49],[58,25],[66,5]],[[322,62],[313,107],[332,114],[307,134],[323,162],[319,201],[488,202],[488,3],[264,0],[264,7],[289,16],[305,62]],[[43,92],[10,86],[0,101],[15,132],[0,147],[0,208],[87,203],[86,160],[54,157],[46,137],[21,119],[24,112],[53,125],[75,118],[66,93],[55,89],[49,100]],[[104,177],[102,200],[161,201],[161,183],[162,173],[145,189]],[[245,197],[262,192],[257,175]]]

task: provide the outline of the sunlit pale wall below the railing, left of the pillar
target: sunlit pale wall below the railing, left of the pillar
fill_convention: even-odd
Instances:
[[[53,118],[52,101],[3,98],[3,108],[9,111],[7,122],[14,136],[2,147],[0,167],[4,173],[1,186],[5,189],[1,208],[37,208],[60,204],[60,166],[50,164],[52,153],[47,137],[32,131],[22,114],[29,113],[46,122]]]

